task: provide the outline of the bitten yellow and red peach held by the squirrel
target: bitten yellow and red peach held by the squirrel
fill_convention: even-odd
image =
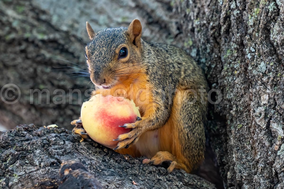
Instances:
[[[134,123],[137,116],[140,117],[139,107],[133,100],[111,95],[94,95],[81,109],[83,128],[89,137],[108,148],[116,147],[118,141],[113,139],[118,135],[131,131],[118,126]]]

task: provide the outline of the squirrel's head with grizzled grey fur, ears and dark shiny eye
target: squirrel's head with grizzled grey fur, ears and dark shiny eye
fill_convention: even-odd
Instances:
[[[141,70],[142,26],[135,19],[128,28],[108,28],[97,33],[87,22],[91,43],[86,58],[91,81],[98,87],[111,88]]]

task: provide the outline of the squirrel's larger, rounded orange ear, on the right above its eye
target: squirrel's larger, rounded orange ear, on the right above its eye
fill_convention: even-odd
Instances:
[[[140,45],[142,26],[138,19],[134,19],[128,27],[127,33],[130,36],[132,43],[136,46]]]

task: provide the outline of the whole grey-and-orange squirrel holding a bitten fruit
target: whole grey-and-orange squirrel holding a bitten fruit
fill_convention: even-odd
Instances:
[[[85,56],[97,89],[92,95],[132,99],[141,114],[135,123],[124,125],[132,130],[114,139],[119,141],[114,150],[146,156],[143,163],[150,165],[170,161],[167,173],[197,169],[204,160],[207,120],[207,82],[201,67],[180,48],[143,41],[137,19],[128,28],[97,33],[87,22],[87,32],[91,42]],[[80,118],[71,124],[76,125],[73,133],[88,138]]]

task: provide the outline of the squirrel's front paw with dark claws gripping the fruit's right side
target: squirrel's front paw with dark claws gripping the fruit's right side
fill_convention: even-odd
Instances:
[[[124,124],[123,126],[119,126],[119,127],[123,127],[123,128],[132,128],[132,130],[128,133],[119,135],[117,139],[114,139],[114,141],[120,141],[117,146],[114,148],[114,150],[120,149],[120,148],[128,148],[130,146],[132,146],[133,144],[135,144],[139,137],[143,134],[144,128],[141,126],[141,118],[137,117],[136,118],[136,122],[135,123],[128,123],[128,124]]]

